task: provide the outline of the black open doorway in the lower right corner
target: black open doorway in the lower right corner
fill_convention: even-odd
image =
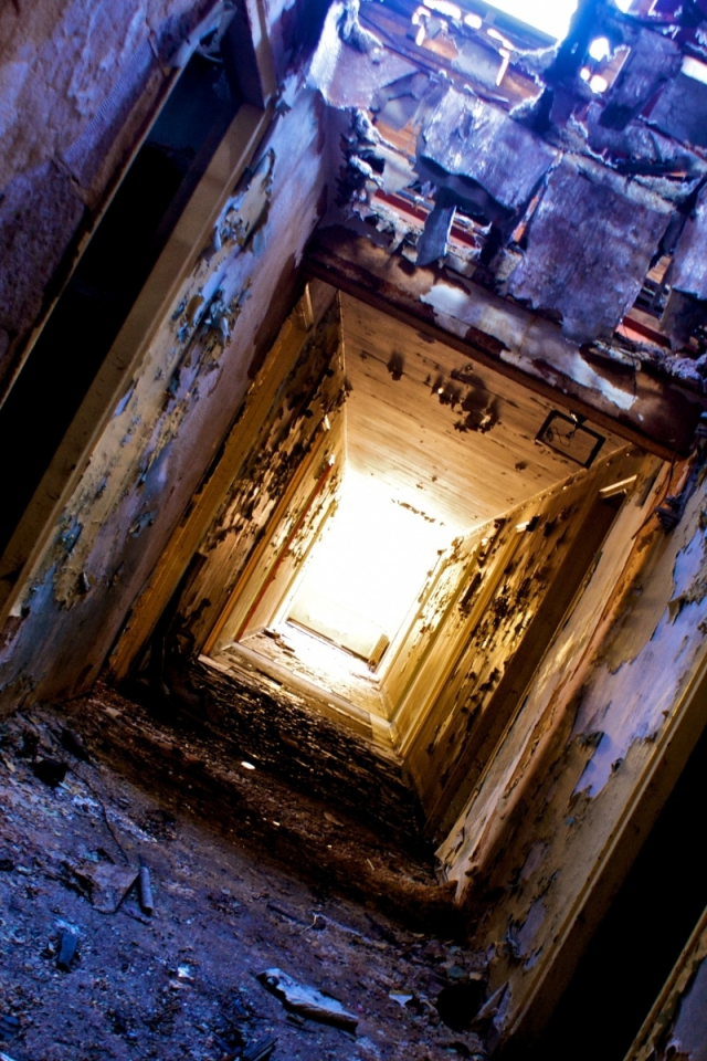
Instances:
[[[706,776],[707,732],[524,1061],[623,1061],[707,905]]]

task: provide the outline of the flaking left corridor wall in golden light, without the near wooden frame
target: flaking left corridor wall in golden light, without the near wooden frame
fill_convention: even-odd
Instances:
[[[235,610],[228,617],[223,638],[230,640],[256,622],[257,609],[267,607],[261,593],[270,586],[271,572],[287,578],[316,537],[340,475],[345,398],[340,308],[335,300],[305,337],[258,433],[249,439],[249,455],[197,554],[203,563],[179,616],[198,647],[230,598]],[[249,586],[243,585],[244,576],[246,582],[250,577]]]

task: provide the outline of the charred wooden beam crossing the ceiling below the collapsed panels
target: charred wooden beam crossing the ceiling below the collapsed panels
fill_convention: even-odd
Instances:
[[[695,426],[707,406],[703,397],[668,377],[633,371],[619,363],[602,366],[597,358],[590,363],[580,347],[562,337],[559,325],[462,277],[433,266],[415,269],[341,227],[318,234],[306,269],[312,276],[663,460],[689,452]],[[469,303],[481,305],[486,300],[487,330],[462,317],[436,313],[430,297],[435,287],[443,294],[451,292],[457,302],[467,293]],[[519,334],[521,339],[513,347],[510,336]]]

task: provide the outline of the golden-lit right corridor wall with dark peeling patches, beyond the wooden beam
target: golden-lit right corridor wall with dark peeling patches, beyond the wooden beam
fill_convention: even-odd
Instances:
[[[429,828],[444,836],[519,707],[542,651],[587,571],[613,510],[599,492],[645,462],[620,451],[475,533],[434,631],[411,669],[395,723]],[[456,811],[456,813],[455,813]],[[445,828],[446,827],[446,828]]]

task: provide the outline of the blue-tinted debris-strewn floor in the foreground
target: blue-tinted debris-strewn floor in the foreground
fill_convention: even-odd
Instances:
[[[474,991],[483,992],[483,956],[403,924],[403,885],[413,899],[415,889],[431,889],[424,880],[430,868],[389,852],[392,876],[402,882],[398,890],[392,878],[386,885],[400,912],[394,920],[380,901],[371,907],[333,890],[330,874],[317,884],[310,864],[317,845],[334,850],[338,836],[349,845],[349,865],[351,845],[358,845],[369,873],[373,860],[382,863],[384,847],[323,805],[291,795],[284,806],[283,790],[260,776],[255,782],[234,775],[251,795],[228,824],[231,812],[224,816],[218,786],[209,809],[215,768],[204,780],[201,764],[201,789],[188,791],[190,782],[175,778],[173,759],[156,759],[154,728],[141,769],[135,756],[123,759],[118,745],[125,750],[139,739],[141,724],[148,726],[140,712],[103,691],[74,702],[68,714],[45,707],[17,714],[0,728],[0,1057],[483,1058],[478,1037],[460,1029],[458,1015],[450,1017],[450,1000],[454,1013],[460,991],[465,1013]],[[78,732],[89,761],[80,757],[67,726]],[[176,743],[182,757],[197,758],[183,735]],[[56,780],[49,775],[62,767],[52,761],[68,767],[56,785],[48,784]],[[271,802],[261,818],[272,816],[277,800],[283,820],[297,819],[283,852],[292,859],[300,844],[302,873],[285,865],[283,852],[266,850],[266,831],[254,830],[247,841],[247,823],[266,790]],[[309,850],[307,817],[313,834],[319,833]],[[270,828],[283,823],[272,820]],[[150,871],[151,916],[140,908],[136,886],[122,897],[116,884],[119,869],[136,872],[140,858]],[[67,933],[77,937],[77,948],[65,970],[60,958]],[[358,1018],[356,1033],[288,1012],[256,979],[272,967],[336,996]]]

